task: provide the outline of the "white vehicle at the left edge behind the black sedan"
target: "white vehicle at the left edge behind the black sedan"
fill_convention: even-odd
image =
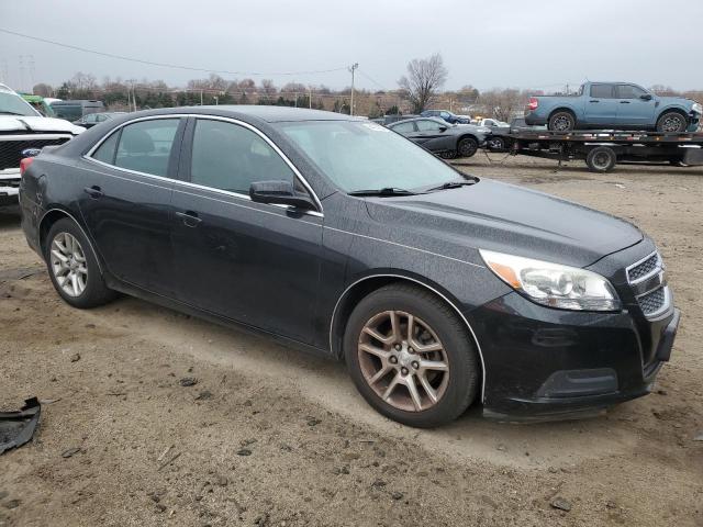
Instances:
[[[0,85],[0,206],[18,202],[23,152],[65,143],[83,130],[44,117],[19,93]]]

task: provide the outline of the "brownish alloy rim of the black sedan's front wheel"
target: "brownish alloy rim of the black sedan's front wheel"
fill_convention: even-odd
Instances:
[[[364,379],[391,406],[422,412],[436,405],[449,383],[444,345],[411,313],[384,311],[361,329],[358,359]]]

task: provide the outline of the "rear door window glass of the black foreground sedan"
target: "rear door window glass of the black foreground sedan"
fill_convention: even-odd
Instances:
[[[179,119],[154,119],[122,128],[114,165],[129,170],[168,176],[168,160]]]

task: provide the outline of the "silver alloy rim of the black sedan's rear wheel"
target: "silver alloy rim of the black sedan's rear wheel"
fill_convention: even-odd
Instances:
[[[80,296],[88,284],[86,254],[69,233],[58,233],[52,240],[52,272],[56,283],[68,296]]]

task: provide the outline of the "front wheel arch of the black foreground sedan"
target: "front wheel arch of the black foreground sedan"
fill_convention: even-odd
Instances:
[[[389,285],[391,283],[409,283],[412,285],[421,287],[432,294],[440,299],[444,303],[446,303],[451,310],[456,312],[459,318],[464,322],[464,325],[469,332],[473,340],[473,345],[476,346],[476,350],[479,355],[479,360],[481,361],[481,402],[483,401],[483,394],[486,392],[486,361],[483,360],[483,352],[481,350],[481,345],[479,343],[478,337],[476,336],[476,332],[471,327],[471,324],[464,315],[461,310],[458,307],[458,302],[454,299],[448,292],[443,291],[443,289],[432,283],[431,281],[420,278],[413,277],[403,273],[402,271],[397,270],[384,270],[378,271],[370,274],[366,274],[364,277],[358,278],[353,281],[347,288],[342,292],[332,312],[332,318],[330,321],[330,351],[336,357],[341,358],[343,356],[342,350],[342,340],[344,338],[344,329],[346,328],[347,321],[352,315],[352,312],[357,306],[357,304],[368,296],[373,291],[378,289]]]

